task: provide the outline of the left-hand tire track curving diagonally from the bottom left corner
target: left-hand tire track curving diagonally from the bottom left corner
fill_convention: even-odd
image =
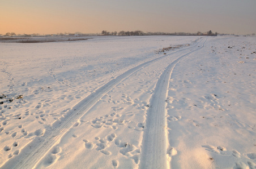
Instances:
[[[200,41],[202,42],[202,40]],[[194,46],[188,48],[182,48],[176,52],[173,52],[168,55],[157,57],[156,59],[146,61],[143,64],[135,66],[127,70],[125,73],[118,75],[116,78],[112,79],[108,83],[104,84],[96,91],[92,92],[85,99],[76,104],[69,112],[66,113],[65,117],[54,122],[51,127],[46,128],[44,136],[37,136],[27,145],[25,145],[22,150],[20,150],[19,155],[9,159],[7,162],[3,163],[0,168],[36,168],[37,164],[45,157],[49,151],[59,143],[61,138],[70,130],[72,125],[84,114],[92,108],[93,105],[101,99],[107,92],[112,90],[117,84],[129,78],[131,74],[142,69],[144,66],[147,66],[157,60],[163,59],[170,55],[176,54],[184,50],[190,50],[191,48],[198,46],[200,43],[196,43]]]

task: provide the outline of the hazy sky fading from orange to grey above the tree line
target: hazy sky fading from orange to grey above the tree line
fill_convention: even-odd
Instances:
[[[0,0],[0,34],[256,33],[256,0]]]

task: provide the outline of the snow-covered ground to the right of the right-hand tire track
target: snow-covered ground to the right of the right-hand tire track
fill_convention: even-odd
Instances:
[[[167,105],[172,168],[255,168],[253,51],[253,37],[218,37],[177,64]]]

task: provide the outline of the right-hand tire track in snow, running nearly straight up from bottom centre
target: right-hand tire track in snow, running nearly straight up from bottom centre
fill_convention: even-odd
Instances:
[[[195,50],[174,60],[167,66],[157,81],[155,91],[150,100],[150,109],[147,112],[140,168],[170,168],[167,160],[167,103],[165,101],[168,94],[169,79],[176,64],[184,57],[204,47],[206,40],[201,47],[197,47]]]

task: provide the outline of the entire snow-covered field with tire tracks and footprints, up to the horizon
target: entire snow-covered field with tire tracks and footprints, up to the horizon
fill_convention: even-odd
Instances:
[[[0,43],[0,168],[256,168],[256,37],[90,38]]]

